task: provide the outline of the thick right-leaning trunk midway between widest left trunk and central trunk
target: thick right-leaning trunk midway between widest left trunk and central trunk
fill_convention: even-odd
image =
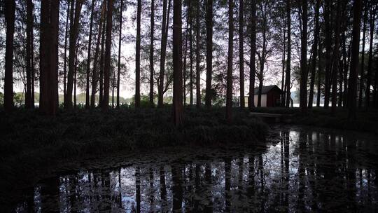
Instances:
[[[108,11],[106,11],[106,41],[104,62],[104,99],[102,102],[102,111],[108,111],[109,109],[109,78],[111,69],[111,27],[113,22],[113,0],[108,1],[107,9]]]

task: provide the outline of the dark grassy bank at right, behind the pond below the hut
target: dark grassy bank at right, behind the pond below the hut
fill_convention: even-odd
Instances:
[[[378,110],[377,109],[360,109],[357,118],[350,120],[348,118],[348,110],[339,108],[335,115],[332,115],[330,109],[323,107],[314,107],[309,109],[307,113],[302,113],[299,108],[256,108],[255,112],[284,114],[293,124],[313,125],[321,128],[336,128],[341,130],[355,130],[359,132],[377,132],[378,126]]]

